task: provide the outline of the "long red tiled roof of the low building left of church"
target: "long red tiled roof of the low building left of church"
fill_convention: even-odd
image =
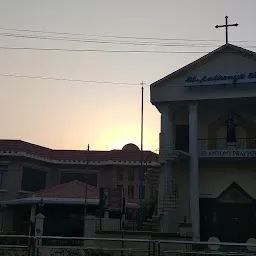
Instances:
[[[0,151],[15,151],[33,154],[52,160],[73,160],[86,161],[87,150],[55,150],[21,140],[0,140]],[[144,161],[157,161],[157,154],[152,151],[143,151]],[[140,151],[138,150],[110,150],[110,151],[90,151],[88,155],[90,161],[139,161]]]

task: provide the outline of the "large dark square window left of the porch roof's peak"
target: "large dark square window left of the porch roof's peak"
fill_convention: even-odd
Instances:
[[[46,187],[46,172],[23,167],[21,189],[30,192],[36,192]]]

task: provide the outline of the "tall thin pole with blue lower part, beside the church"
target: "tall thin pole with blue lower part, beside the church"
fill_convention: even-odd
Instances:
[[[140,145],[140,225],[143,223],[143,202],[142,202],[142,184],[143,184],[143,111],[144,111],[144,87],[141,83],[141,145]]]

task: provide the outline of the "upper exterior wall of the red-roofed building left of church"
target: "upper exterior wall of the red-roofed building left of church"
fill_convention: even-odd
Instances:
[[[2,158],[0,163],[8,165],[8,176],[7,176],[7,189],[0,190],[0,201],[15,199],[22,195],[22,169],[24,166],[33,167],[38,170],[47,172],[46,175],[46,188],[60,184],[60,176],[62,172],[71,173],[84,173],[84,168],[81,166],[55,166],[49,163],[34,161],[30,159],[21,159],[15,157]],[[134,180],[128,179],[129,170],[134,170]],[[123,172],[123,179],[118,180],[118,171]],[[139,202],[139,166],[128,166],[128,165],[113,165],[113,166],[99,166],[89,167],[88,173],[95,173],[98,177],[98,187],[109,187],[116,188],[117,185],[123,185],[128,198],[128,185],[134,186],[134,198],[131,201]],[[144,184],[145,183],[145,184]],[[150,197],[150,183],[146,181],[145,185],[145,197]],[[28,192],[28,191],[27,191]]]

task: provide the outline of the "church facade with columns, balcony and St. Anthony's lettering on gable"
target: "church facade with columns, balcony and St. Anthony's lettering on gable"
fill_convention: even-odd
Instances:
[[[256,237],[256,53],[225,44],[151,85],[162,232]]]

